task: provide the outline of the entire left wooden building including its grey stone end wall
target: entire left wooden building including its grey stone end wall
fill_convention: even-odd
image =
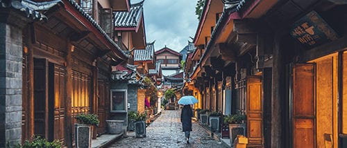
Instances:
[[[128,2],[0,2],[1,25],[7,26],[1,27],[7,28],[1,31],[1,38],[7,39],[6,44],[17,45],[16,51],[7,46],[1,48],[1,53],[17,57],[19,64],[1,69],[1,73],[14,74],[1,77],[10,83],[16,82],[16,86],[1,88],[16,93],[1,91],[4,92],[1,96],[15,98],[1,97],[0,100],[6,108],[20,109],[8,110],[1,105],[1,117],[13,120],[1,122],[0,127],[5,129],[0,128],[0,147],[33,135],[49,141],[60,140],[63,145],[72,147],[74,115],[78,113],[98,114],[101,123],[94,130],[94,136],[105,133],[111,66],[128,60],[128,55],[110,37],[112,8],[128,10]],[[1,57],[1,63],[14,64],[5,57]],[[1,81],[1,86],[8,82]]]

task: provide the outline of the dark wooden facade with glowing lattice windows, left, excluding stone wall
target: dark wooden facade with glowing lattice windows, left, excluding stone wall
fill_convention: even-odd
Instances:
[[[105,133],[111,66],[126,62],[127,55],[79,3],[35,5],[44,9],[36,12],[45,15],[45,21],[33,21],[21,30],[22,141],[37,135],[72,147],[78,113],[99,115],[94,138]]]

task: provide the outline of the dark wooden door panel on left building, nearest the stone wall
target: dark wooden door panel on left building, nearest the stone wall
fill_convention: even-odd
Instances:
[[[46,59],[34,59],[34,134],[48,138],[48,89]]]

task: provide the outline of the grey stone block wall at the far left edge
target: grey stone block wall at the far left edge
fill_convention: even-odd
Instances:
[[[22,140],[22,29],[0,22],[0,147]]]

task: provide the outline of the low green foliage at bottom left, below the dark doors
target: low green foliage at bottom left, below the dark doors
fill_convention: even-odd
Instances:
[[[48,142],[46,139],[41,138],[40,136],[34,136],[32,141],[25,140],[23,145],[15,145],[16,148],[60,148],[62,145],[58,140],[54,140],[53,142]]]

